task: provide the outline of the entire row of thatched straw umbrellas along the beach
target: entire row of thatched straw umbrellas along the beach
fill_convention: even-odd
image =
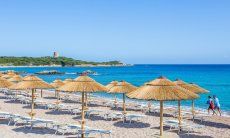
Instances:
[[[165,77],[159,77],[153,81],[145,83],[139,88],[125,81],[112,81],[107,86],[96,82],[88,76],[79,76],[76,79],[66,79],[61,81],[55,80],[51,84],[46,83],[37,76],[29,75],[21,77],[15,73],[0,74],[0,88],[9,88],[15,90],[31,90],[32,92],[32,104],[31,112],[29,115],[31,119],[35,116],[34,112],[34,93],[36,89],[55,89],[55,96],[59,99],[58,92],[80,92],[82,93],[82,112],[81,112],[81,129],[84,132],[85,118],[84,111],[87,93],[92,92],[108,92],[121,93],[123,95],[123,114],[126,114],[125,97],[141,100],[154,100],[160,102],[160,136],[163,135],[163,103],[164,101],[178,101],[178,120],[181,124],[181,101],[192,100],[192,113],[194,114],[194,99],[198,98],[197,94],[206,93],[207,90],[201,88],[196,84],[189,84],[182,80],[170,81]],[[116,102],[116,98],[115,98]],[[82,134],[84,137],[84,134]]]

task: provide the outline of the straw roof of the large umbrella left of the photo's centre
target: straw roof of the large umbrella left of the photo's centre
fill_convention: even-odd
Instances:
[[[96,92],[107,91],[106,87],[88,76],[79,76],[75,80],[66,83],[57,90],[66,92]]]

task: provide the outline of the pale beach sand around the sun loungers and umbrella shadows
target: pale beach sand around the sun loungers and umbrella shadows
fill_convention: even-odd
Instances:
[[[56,99],[52,98],[53,93],[44,91],[44,100],[48,103],[54,103]],[[80,103],[64,102],[65,104],[74,105],[76,107],[81,106]],[[102,106],[89,106],[90,109],[101,109],[104,112],[113,112],[115,109],[110,107]],[[20,114],[28,116],[27,113],[30,112],[30,107],[19,102],[15,102],[10,99],[5,99],[4,94],[0,93],[0,111],[10,112],[14,114]],[[52,111],[44,108],[35,108],[36,118],[49,119],[53,121],[58,121],[60,123],[70,123],[79,124],[81,119],[80,115],[71,115],[62,111]],[[128,110],[128,113],[144,114],[141,111]],[[176,119],[167,113],[171,111],[165,111],[164,120]],[[185,120],[186,122],[191,122],[191,120]],[[194,132],[187,135],[185,132],[177,133],[178,131],[169,131],[169,128],[164,128],[164,137],[166,138],[178,138],[178,137],[204,137],[204,138],[228,138],[230,136],[230,118],[211,116],[205,117],[204,121],[201,123],[195,120],[195,124],[199,124],[202,128],[194,128]],[[105,129],[112,131],[113,138],[152,138],[159,137],[159,114],[158,113],[147,113],[146,117],[142,118],[140,121],[129,123],[123,123],[122,120],[107,121],[100,116],[91,116],[86,118],[86,125],[92,128]],[[42,128],[29,129],[22,126],[8,126],[7,122],[0,120],[0,138],[51,138],[51,137],[74,137],[76,135],[54,135],[53,130],[47,130]],[[95,135],[95,137],[100,137],[100,135]],[[104,135],[109,137],[108,135]]]

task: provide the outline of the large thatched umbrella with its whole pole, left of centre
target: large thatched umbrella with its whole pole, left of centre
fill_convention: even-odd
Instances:
[[[88,76],[79,76],[75,80],[66,83],[57,90],[65,92],[81,92],[82,93],[82,111],[81,111],[81,129],[82,137],[84,137],[84,127],[85,127],[85,93],[98,92],[98,91],[107,91],[106,87],[96,82]]]

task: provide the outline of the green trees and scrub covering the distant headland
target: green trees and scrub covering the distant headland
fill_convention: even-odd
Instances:
[[[67,57],[0,57],[1,66],[75,66],[75,65],[123,65],[119,61],[88,62]]]

